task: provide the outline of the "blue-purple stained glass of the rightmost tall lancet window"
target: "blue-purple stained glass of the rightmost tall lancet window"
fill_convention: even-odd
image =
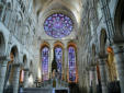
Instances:
[[[68,68],[69,68],[69,81],[76,81],[76,51],[75,47],[68,48]]]

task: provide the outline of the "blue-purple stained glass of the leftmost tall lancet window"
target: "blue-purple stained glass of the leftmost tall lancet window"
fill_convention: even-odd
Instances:
[[[42,78],[43,80],[48,80],[48,47],[42,49]]]

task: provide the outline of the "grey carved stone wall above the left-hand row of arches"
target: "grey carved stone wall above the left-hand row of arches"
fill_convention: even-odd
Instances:
[[[18,47],[19,50],[19,62],[23,63],[23,56],[26,55],[27,67],[33,61],[34,69],[33,74],[37,75],[35,60],[36,46],[36,13],[33,8],[33,0],[1,0],[0,2],[0,32],[3,34],[5,39],[5,53],[10,55],[13,46]],[[34,78],[35,78],[34,77]]]

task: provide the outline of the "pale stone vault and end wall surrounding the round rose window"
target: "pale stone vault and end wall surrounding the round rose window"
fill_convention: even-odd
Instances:
[[[38,21],[37,36],[42,39],[54,39],[44,33],[43,24],[48,15],[57,11],[65,12],[75,23],[74,32],[63,39],[76,39],[82,14],[82,0],[34,0],[34,9]]]

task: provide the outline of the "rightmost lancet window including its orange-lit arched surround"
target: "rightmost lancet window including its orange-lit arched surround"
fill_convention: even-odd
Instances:
[[[78,81],[77,46],[74,42],[68,43],[68,82]]]

